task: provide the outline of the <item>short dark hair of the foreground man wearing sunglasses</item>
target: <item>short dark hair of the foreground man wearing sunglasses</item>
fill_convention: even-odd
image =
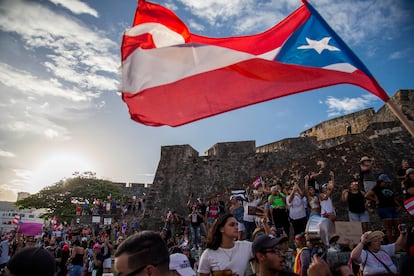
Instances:
[[[161,272],[169,270],[168,248],[161,235],[154,231],[142,231],[124,240],[115,252],[115,257],[129,255],[128,267],[136,269],[143,265],[154,265]]]

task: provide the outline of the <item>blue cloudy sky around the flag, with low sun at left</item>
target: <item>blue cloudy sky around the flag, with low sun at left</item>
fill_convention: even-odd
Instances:
[[[300,0],[158,0],[192,33],[263,32]],[[311,0],[392,96],[414,89],[414,1]],[[162,146],[200,155],[219,142],[264,145],[383,102],[351,85],[260,103],[172,128],[129,118],[119,94],[120,44],[133,0],[0,0],[0,200],[74,172],[151,183]]]

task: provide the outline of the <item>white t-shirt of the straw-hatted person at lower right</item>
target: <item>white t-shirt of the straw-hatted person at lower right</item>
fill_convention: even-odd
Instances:
[[[393,263],[391,257],[395,255],[395,244],[381,245],[380,251],[377,253],[372,252],[380,259],[386,266],[390,268],[393,273],[397,273],[397,267]],[[368,256],[368,258],[367,258]],[[365,266],[365,260],[367,260]],[[388,270],[367,250],[361,252],[361,269],[363,269],[363,275],[376,275],[381,273],[388,273]]]

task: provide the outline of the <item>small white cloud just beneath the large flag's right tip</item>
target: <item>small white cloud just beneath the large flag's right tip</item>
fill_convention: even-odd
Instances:
[[[328,106],[328,116],[333,117],[367,108],[371,106],[374,101],[377,100],[378,99],[371,94],[363,95],[357,98],[343,99],[330,96],[325,100],[325,104]]]

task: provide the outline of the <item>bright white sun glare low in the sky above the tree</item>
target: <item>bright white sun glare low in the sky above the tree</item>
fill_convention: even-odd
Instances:
[[[55,154],[34,166],[31,187],[28,192],[36,193],[46,186],[72,177],[74,172],[95,171],[90,162],[83,156],[72,153]]]

